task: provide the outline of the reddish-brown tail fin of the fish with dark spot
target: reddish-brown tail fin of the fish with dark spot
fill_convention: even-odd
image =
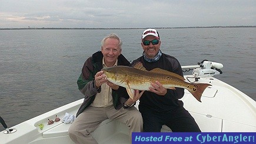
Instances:
[[[201,96],[204,90],[208,87],[211,86],[208,83],[191,83],[192,88],[189,89],[188,91],[191,92],[191,94],[197,99],[197,101],[201,102]]]

